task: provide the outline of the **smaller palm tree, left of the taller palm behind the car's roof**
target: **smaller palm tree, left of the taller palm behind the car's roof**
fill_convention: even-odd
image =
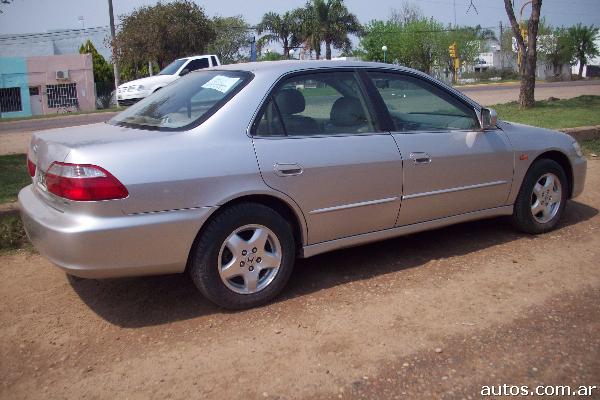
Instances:
[[[298,21],[296,15],[289,11],[283,15],[266,13],[256,26],[256,31],[259,35],[267,32],[258,40],[259,48],[267,43],[279,42],[283,46],[284,57],[287,57],[290,49],[298,45]]]

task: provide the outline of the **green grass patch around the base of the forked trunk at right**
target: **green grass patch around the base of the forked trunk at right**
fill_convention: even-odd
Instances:
[[[498,118],[549,129],[600,125],[600,96],[538,101],[535,107],[520,110],[517,102],[492,106]]]

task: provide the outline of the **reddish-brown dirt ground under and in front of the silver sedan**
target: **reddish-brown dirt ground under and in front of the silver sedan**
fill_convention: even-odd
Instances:
[[[70,280],[0,256],[0,398],[475,399],[600,387],[600,161],[561,227],[479,221],[301,260],[224,312],[185,276]],[[600,398],[600,389],[590,398]]]

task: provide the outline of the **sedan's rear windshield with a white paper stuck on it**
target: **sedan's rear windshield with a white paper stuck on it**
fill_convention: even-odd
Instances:
[[[134,104],[109,123],[150,130],[185,130],[202,123],[252,78],[243,71],[196,71]]]

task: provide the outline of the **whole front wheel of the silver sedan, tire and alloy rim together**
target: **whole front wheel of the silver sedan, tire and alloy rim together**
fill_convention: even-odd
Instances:
[[[515,201],[513,224],[518,230],[534,235],[553,230],[565,209],[568,191],[567,175],[557,162],[535,161]]]

